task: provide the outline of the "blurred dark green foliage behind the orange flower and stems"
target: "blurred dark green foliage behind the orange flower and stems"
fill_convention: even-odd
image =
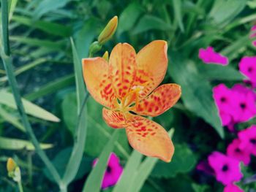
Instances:
[[[219,82],[233,85],[244,79],[238,72],[238,61],[243,55],[255,54],[249,39],[256,19],[255,0],[10,1],[13,12],[9,26],[10,50],[15,76],[34,132],[61,175],[72,150],[78,120],[69,38],[74,39],[81,61],[88,56],[89,45],[108,20],[118,15],[116,34],[97,55],[101,56],[105,50],[110,52],[118,42],[128,42],[138,52],[154,39],[165,39],[169,64],[163,82],[176,82],[183,91],[173,109],[154,118],[167,130],[175,128],[173,161],[170,164],[157,161],[152,165],[154,169],[139,190],[223,190],[213,177],[198,173],[195,166],[211,151],[225,150],[233,138],[221,126],[211,89]],[[198,59],[198,50],[208,45],[228,56],[230,65],[203,64]],[[7,177],[5,164],[9,156],[21,168],[25,191],[58,191],[24,133],[2,65],[0,85],[0,191],[16,188]],[[101,110],[89,98],[86,146],[69,191],[82,190],[93,159],[99,156],[113,133],[113,128],[102,120]],[[125,131],[118,131],[114,151],[125,165],[132,149]],[[252,166],[256,166],[255,161]]]

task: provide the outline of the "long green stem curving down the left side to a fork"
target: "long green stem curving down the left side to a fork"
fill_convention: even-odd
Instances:
[[[8,30],[8,4],[7,4],[7,0],[1,0],[2,4],[3,4],[3,2],[6,4],[6,6],[2,7],[1,17],[5,18],[5,20],[7,20],[7,22],[2,23],[2,30],[3,30],[2,32],[6,33],[6,31]],[[7,47],[9,47],[8,39],[9,39],[9,37],[8,37],[8,32],[7,32],[7,36],[4,36],[4,39],[3,39],[3,42],[5,44],[7,44]],[[34,148],[35,148],[37,154],[42,159],[42,161],[45,163],[45,166],[47,166],[48,170],[50,171],[50,174],[52,174],[56,183],[58,183],[60,185],[61,177],[59,176],[59,173],[57,172],[57,170],[53,166],[53,164],[50,163],[50,160],[49,160],[48,156],[45,154],[45,151],[43,151],[42,148],[40,147],[37,137],[34,135],[34,131],[31,128],[31,124],[29,123],[28,116],[26,115],[23,103],[21,101],[20,91],[18,90],[18,83],[16,82],[15,75],[13,72],[12,60],[9,57],[9,55],[5,55],[1,49],[0,49],[0,55],[1,55],[1,59],[4,64],[4,69],[7,72],[10,87],[12,88],[12,93],[15,98],[15,103],[17,105],[18,112],[20,114],[20,118],[22,120],[23,126],[26,128],[27,134],[29,135],[31,142],[34,145]]]

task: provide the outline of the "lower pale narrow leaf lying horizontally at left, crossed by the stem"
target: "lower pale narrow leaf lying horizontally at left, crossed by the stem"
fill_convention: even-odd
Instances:
[[[40,144],[44,150],[53,147],[52,144]],[[0,137],[0,148],[4,150],[34,150],[34,145],[31,142],[21,139],[11,139],[7,137]]]

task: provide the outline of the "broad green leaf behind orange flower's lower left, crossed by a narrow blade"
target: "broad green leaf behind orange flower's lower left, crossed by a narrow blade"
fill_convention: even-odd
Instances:
[[[102,105],[94,99],[89,98],[88,105],[88,132],[86,137],[86,153],[97,156],[105,147],[105,143],[110,139],[114,129],[110,128],[102,119]],[[129,144],[124,128],[118,129],[120,132],[116,142],[116,154],[121,158],[129,156]]]

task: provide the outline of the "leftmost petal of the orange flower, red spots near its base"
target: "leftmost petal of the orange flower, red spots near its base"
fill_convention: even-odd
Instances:
[[[83,59],[83,79],[91,96],[105,107],[116,106],[116,96],[108,75],[108,63],[104,58]]]

